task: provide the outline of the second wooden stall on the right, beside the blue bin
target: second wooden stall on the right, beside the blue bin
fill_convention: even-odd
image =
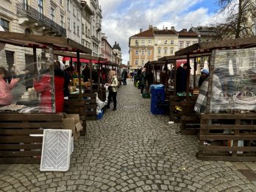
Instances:
[[[166,91],[168,93],[168,101],[169,105],[169,113],[170,118],[169,121],[174,121],[175,123],[180,123],[180,131],[182,134],[196,134],[199,132],[199,115],[196,115],[193,107],[196,103],[196,99],[198,96],[198,90],[196,88],[196,58],[197,57],[207,57],[210,53],[193,53],[193,54],[185,54],[179,56],[168,56],[162,57],[159,59],[159,62],[164,62],[167,64],[171,64],[174,68],[174,77],[173,77],[173,86],[172,89]],[[193,67],[193,89],[190,88],[191,84],[191,70],[186,70],[186,91],[185,93],[177,93],[177,60],[186,60],[188,65],[191,65],[191,59],[193,59],[194,67]],[[173,70],[171,68],[171,70]],[[168,86],[168,85],[166,85]]]

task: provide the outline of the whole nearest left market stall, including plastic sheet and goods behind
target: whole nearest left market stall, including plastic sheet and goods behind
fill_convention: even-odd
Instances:
[[[61,110],[59,99],[63,97],[54,86],[59,82],[54,79],[58,74],[54,73],[53,52],[77,51],[79,55],[90,54],[91,50],[67,38],[14,32],[0,32],[0,43],[20,51],[18,58],[25,52],[33,56],[32,61],[24,60],[13,66],[11,74],[4,69],[6,66],[1,68],[1,83],[12,91],[4,93],[1,89],[0,163],[40,163],[43,129],[65,129],[65,114],[57,113]],[[48,50],[46,60],[38,60],[42,49]],[[2,76],[4,73],[7,78]],[[63,89],[60,91],[63,93]]]

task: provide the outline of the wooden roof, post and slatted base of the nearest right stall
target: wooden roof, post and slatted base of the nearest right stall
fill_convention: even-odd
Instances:
[[[256,47],[256,37],[239,38],[222,41],[209,41],[196,43],[186,49],[176,52],[176,55],[212,53],[214,49],[243,49]],[[248,146],[238,146],[238,141],[256,141],[256,113],[210,113],[210,96],[213,85],[213,69],[210,65],[210,80],[207,93],[207,111],[200,115],[199,132],[199,160],[227,160],[227,161],[255,161],[256,146],[251,143]],[[232,121],[233,123],[227,123]],[[217,121],[218,124],[213,124]],[[242,124],[242,121],[250,121],[252,124]],[[216,131],[218,130],[218,133]],[[224,130],[233,130],[233,133],[224,133]],[[223,131],[220,133],[219,131]],[[205,141],[219,141],[222,146],[205,145]],[[233,141],[232,146],[223,146],[224,142]]]

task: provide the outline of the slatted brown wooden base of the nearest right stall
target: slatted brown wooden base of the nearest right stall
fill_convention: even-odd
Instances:
[[[255,161],[256,114],[201,115],[199,160]],[[230,133],[224,133],[230,132]],[[210,141],[210,146],[204,145]],[[232,146],[228,143],[231,143]],[[243,141],[243,146],[238,146]]]

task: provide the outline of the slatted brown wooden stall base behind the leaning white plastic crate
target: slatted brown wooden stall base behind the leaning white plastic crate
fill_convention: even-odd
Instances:
[[[40,163],[43,129],[63,129],[63,113],[0,114],[0,164]]]

